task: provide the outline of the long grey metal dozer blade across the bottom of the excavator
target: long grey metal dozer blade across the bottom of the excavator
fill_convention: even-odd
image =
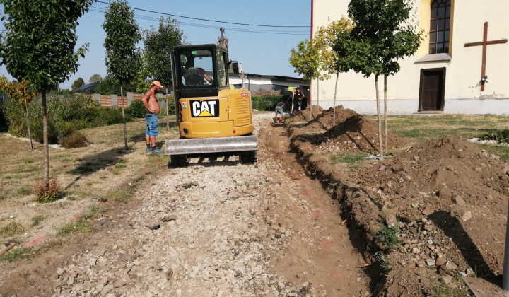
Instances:
[[[166,139],[166,155],[257,151],[258,136],[232,136],[197,139]]]

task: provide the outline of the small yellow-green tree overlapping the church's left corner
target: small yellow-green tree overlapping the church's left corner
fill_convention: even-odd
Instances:
[[[306,39],[298,43],[297,50],[291,49],[291,57],[288,59],[295,68],[295,72],[304,76],[305,80],[312,81],[312,79],[317,78],[317,104],[320,102],[318,81],[330,78],[329,74],[320,72],[324,69],[324,60],[320,54],[320,47],[317,46],[315,40],[309,41]]]

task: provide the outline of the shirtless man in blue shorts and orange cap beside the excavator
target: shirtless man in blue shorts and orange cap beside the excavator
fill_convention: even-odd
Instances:
[[[147,144],[147,153],[163,153],[159,148],[156,147],[156,136],[159,135],[158,125],[159,119],[158,114],[160,111],[159,103],[156,99],[156,91],[159,91],[161,86],[160,82],[153,81],[150,90],[145,93],[144,97],[141,98],[141,102],[144,103],[147,112],[145,114],[146,131],[145,140]]]

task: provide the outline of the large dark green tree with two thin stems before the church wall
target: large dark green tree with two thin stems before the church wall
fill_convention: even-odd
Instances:
[[[369,77],[375,75],[378,113],[380,158],[383,158],[382,121],[378,76],[384,76],[385,149],[387,149],[387,76],[396,74],[398,59],[409,57],[419,48],[422,33],[417,32],[417,22],[411,19],[411,0],[351,0],[349,16],[356,26],[352,30],[353,48],[358,55],[352,68]]]

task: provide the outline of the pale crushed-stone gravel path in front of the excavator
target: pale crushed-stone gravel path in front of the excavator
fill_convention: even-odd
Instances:
[[[271,116],[255,115],[256,127]],[[100,218],[103,238],[54,272],[53,296],[326,296],[271,272],[293,236],[311,245],[291,220],[292,211],[313,210],[267,150],[258,158],[169,168],[136,193],[129,212]]]

